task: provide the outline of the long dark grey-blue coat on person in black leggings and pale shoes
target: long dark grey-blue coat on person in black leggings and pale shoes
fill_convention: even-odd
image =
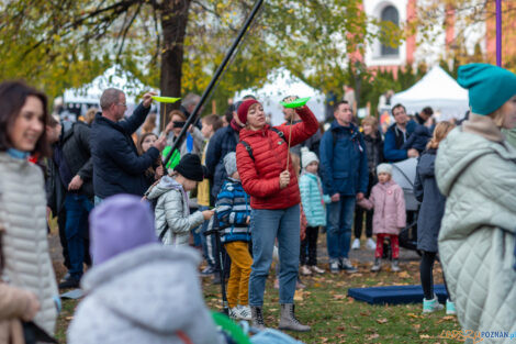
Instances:
[[[434,171],[436,154],[436,149],[428,149],[422,155],[414,182],[414,195],[422,202],[417,218],[417,248],[426,252],[437,252],[437,236],[446,204]]]

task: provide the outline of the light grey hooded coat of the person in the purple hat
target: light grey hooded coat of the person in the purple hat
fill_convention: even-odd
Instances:
[[[191,248],[148,244],[93,266],[68,329],[69,344],[221,343]]]

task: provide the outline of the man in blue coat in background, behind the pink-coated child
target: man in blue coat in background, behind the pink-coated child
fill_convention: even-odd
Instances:
[[[383,142],[383,156],[389,163],[401,162],[410,157],[417,157],[419,153],[414,149],[402,149],[403,144],[414,133],[417,123],[408,119],[405,107],[395,104],[392,108],[395,123],[389,126]]]

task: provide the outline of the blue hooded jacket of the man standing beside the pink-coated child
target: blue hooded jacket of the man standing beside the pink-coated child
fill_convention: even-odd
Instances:
[[[366,193],[369,182],[368,157],[358,126],[352,123],[341,126],[334,121],[321,140],[319,155],[325,195]]]

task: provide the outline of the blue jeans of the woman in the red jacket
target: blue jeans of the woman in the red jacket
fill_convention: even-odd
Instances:
[[[249,278],[249,304],[261,307],[266,280],[278,237],[280,254],[280,303],[293,303],[300,262],[300,207],[253,209],[253,267]]]

